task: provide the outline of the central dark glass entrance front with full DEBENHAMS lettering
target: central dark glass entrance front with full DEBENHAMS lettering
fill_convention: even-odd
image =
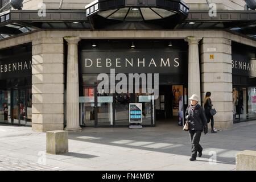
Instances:
[[[96,47],[92,47],[92,43]],[[157,39],[81,40],[80,125],[128,126],[130,103],[143,104],[144,126],[154,126],[156,120],[177,116],[179,97],[182,106],[183,93],[187,98],[188,45],[184,40],[173,40],[175,46],[168,46],[169,43],[170,40]],[[135,47],[131,48],[131,44]],[[104,81],[98,78],[100,74],[108,79],[105,88],[98,87]],[[139,80],[133,78],[136,74],[141,76]],[[122,81],[125,84],[120,85]],[[142,93],[142,89],[148,90],[150,85],[152,89],[159,89],[156,100],[148,100],[147,91]],[[118,92],[118,88],[122,92]],[[183,110],[180,108],[180,111]],[[182,117],[183,113],[180,114]]]

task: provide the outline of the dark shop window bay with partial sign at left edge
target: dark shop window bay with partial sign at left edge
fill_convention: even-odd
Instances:
[[[31,126],[31,44],[23,44],[1,50],[0,64],[0,122]]]

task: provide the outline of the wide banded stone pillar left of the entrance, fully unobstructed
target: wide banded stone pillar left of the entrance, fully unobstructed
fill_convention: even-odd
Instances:
[[[32,42],[32,130],[64,129],[64,40]]]

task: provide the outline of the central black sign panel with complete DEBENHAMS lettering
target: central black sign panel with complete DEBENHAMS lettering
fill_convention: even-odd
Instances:
[[[81,52],[82,73],[183,73],[187,52]]]

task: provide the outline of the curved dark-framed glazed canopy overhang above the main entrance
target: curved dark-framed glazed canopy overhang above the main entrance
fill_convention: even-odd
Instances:
[[[189,13],[189,7],[181,0],[96,0],[86,5],[85,10],[96,28],[119,23],[168,23],[175,27]]]

